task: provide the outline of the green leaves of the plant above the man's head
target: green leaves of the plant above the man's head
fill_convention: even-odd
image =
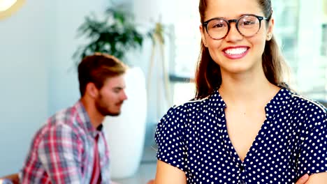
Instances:
[[[94,52],[104,52],[123,59],[130,49],[140,48],[144,36],[136,29],[133,15],[120,8],[108,8],[103,20],[95,15],[85,17],[85,22],[78,28],[78,37],[89,41],[78,47],[73,57],[80,62]]]

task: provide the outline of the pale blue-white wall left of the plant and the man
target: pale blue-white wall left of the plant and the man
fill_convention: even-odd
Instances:
[[[78,100],[78,26],[108,1],[31,0],[0,20],[0,176],[22,167],[46,118]]]

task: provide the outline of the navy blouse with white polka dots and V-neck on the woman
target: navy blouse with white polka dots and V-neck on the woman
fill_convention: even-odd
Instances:
[[[243,162],[228,137],[225,107],[218,91],[171,107],[157,125],[158,160],[196,184],[296,183],[327,171],[327,111],[319,103],[280,89]]]

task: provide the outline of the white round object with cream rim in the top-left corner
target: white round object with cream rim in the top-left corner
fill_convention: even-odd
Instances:
[[[0,20],[20,9],[24,0],[0,0]]]

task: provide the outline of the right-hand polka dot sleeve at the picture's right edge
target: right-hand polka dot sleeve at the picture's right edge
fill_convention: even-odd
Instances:
[[[308,128],[300,147],[298,178],[303,174],[327,171],[327,112],[321,110],[312,115],[312,128]]]

